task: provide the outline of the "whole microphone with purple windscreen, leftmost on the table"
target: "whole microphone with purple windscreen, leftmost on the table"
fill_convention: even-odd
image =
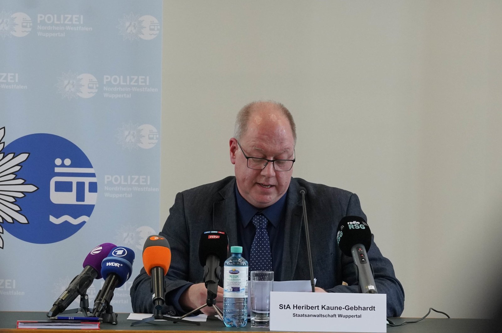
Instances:
[[[52,308],[47,312],[48,317],[54,317],[63,312],[78,295],[83,296],[86,293],[94,279],[101,278],[101,261],[113,247],[115,247],[114,244],[103,243],[87,254],[82,264],[84,269],[71,280],[68,288],[56,299]]]

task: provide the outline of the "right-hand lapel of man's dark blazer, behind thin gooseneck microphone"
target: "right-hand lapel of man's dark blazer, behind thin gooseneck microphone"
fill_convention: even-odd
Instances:
[[[284,228],[284,249],[282,281],[293,280],[298,251],[300,249],[300,236],[302,233],[302,200],[298,194],[299,185],[294,178],[288,188],[286,198],[286,221]]]

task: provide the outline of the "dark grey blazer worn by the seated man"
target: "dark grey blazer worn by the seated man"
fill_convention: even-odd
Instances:
[[[305,200],[316,286],[329,292],[358,292],[352,258],[339,250],[336,229],[344,216],[366,219],[359,198],[348,191],[309,183],[301,178],[292,178],[287,192],[283,268],[275,279],[310,280],[302,200],[298,193],[301,186],[307,191]],[[187,284],[202,282],[203,267],[199,263],[198,247],[204,231],[225,231],[230,246],[241,245],[237,242],[235,177],[178,193],[169,213],[160,233],[169,241],[172,254],[165,278],[166,299],[172,298]],[[373,240],[367,254],[373,266],[376,287],[379,293],[387,294],[387,316],[401,315],[404,290],[394,274],[392,263],[382,256]],[[348,286],[341,285],[342,281]],[[150,277],[144,268],[131,287],[131,298],[135,312],[153,312]],[[176,312],[169,305],[173,304],[165,306],[166,313]]]

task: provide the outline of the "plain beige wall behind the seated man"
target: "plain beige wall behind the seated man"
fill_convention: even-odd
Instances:
[[[166,1],[163,12],[161,226],[177,192],[233,174],[236,111],[274,99],[297,123],[293,175],[359,195],[405,288],[403,315],[489,315],[502,2]]]

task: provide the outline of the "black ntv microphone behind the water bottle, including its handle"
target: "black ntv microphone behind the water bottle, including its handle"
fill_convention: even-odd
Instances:
[[[218,283],[228,255],[228,237],[223,231],[205,231],[200,236],[199,260],[204,266],[204,284],[207,288],[206,304],[216,304]]]

